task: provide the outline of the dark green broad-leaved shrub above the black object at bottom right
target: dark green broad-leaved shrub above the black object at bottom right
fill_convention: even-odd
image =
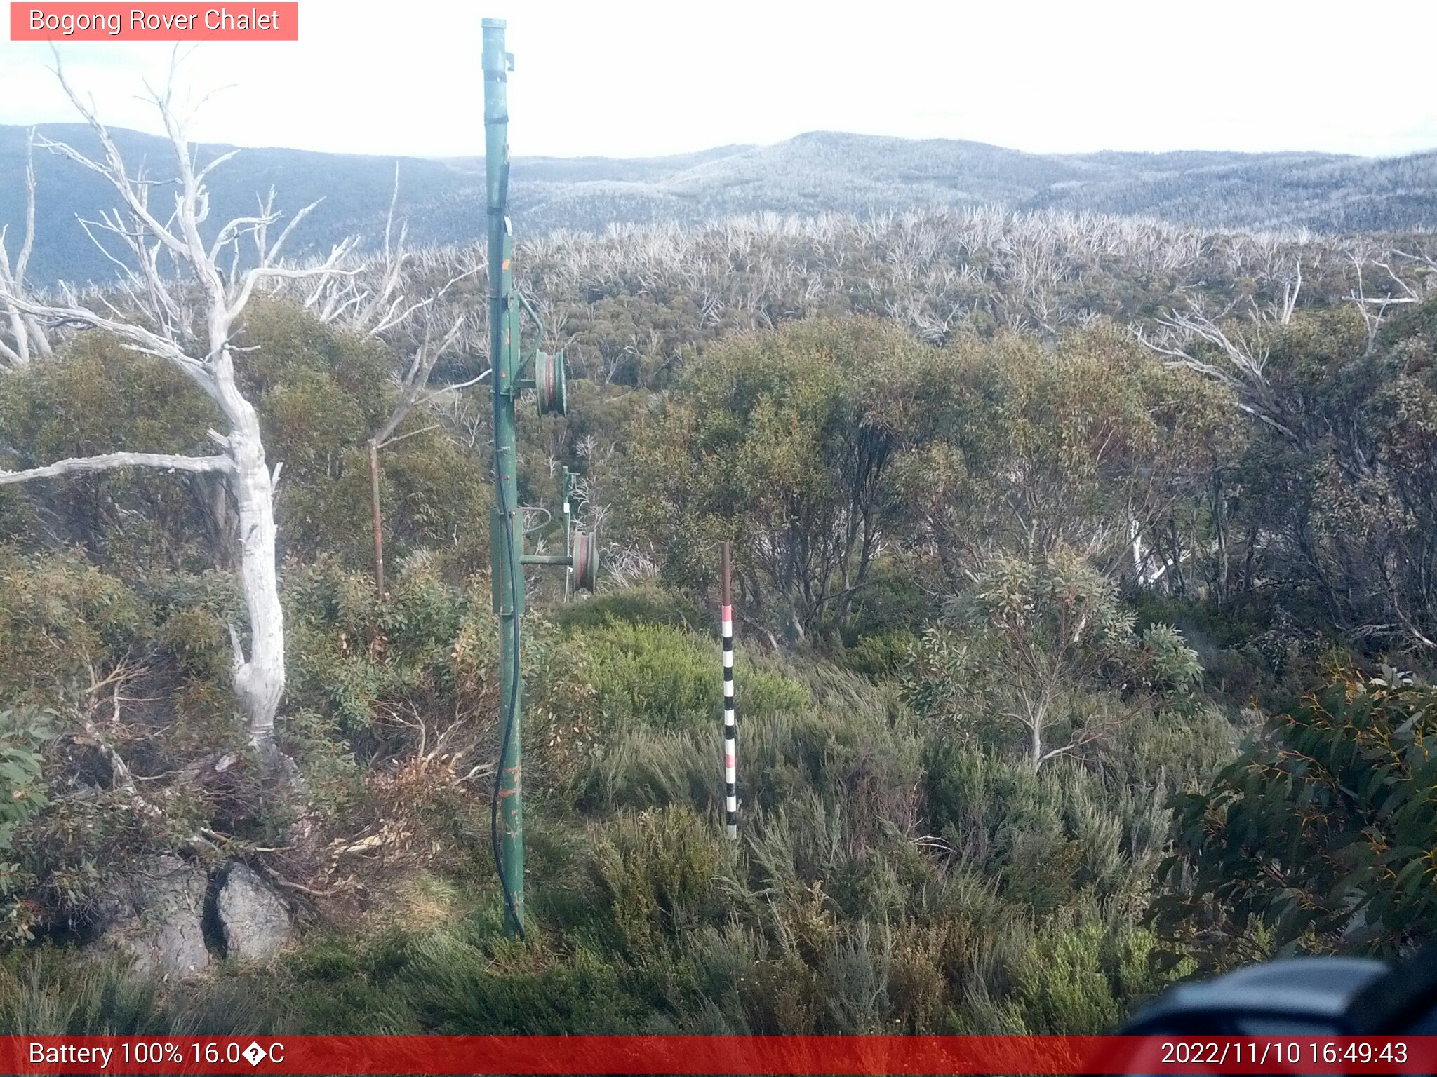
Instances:
[[[1339,672],[1175,801],[1168,939],[1398,954],[1437,932],[1437,689]]]

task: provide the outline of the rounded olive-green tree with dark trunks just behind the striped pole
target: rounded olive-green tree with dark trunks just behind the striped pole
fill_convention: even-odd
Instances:
[[[842,625],[897,513],[890,470],[950,389],[940,352],[881,322],[721,342],[632,431],[629,526],[690,586],[713,579],[713,540],[734,540],[744,597],[792,638]]]

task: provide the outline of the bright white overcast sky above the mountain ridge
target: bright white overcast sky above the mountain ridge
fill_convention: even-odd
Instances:
[[[815,129],[1036,152],[1437,148],[1437,0],[300,0],[297,43],[198,49],[193,82],[230,89],[191,136],[479,154],[483,16],[509,20],[519,155]],[[132,98],[170,49],[60,56],[109,123],[154,129]],[[75,119],[49,62],[46,45],[0,40],[0,123]]]

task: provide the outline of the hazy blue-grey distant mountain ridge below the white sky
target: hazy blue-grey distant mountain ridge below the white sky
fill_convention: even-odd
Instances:
[[[45,125],[50,138],[93,149],[83,125]],[[0,126],[0,225],[23,223],[26,128]],[[116,129],[132,167],[170,175],[168,144]],[[201,161],[231,146],[205,145]],[[211,177],[211,220],[254,207],[272,185],[286,211],[325,201],[295,236],[295,253],[384,228],[394,157],[244,149]],[[415,244],[479,237],[480,158],[398,158],[399,215]],[[37,243],[30,277],[105,280],[114,267],[75,223],[115,204],[99,177],[36,154]],[[158,197],[158,191],[157,191]],[[766,146],[734,145],[658,158],[516,158],[513,217],[525,236],[612,223],[698,224],[747,213],[872,214],[997,204],[1158,217],[1180,224],[1316,231],[1437,228],[1437,151],[1398,158],[1339,154],[1026,154],[953,139],[901,139],[816,131]]]

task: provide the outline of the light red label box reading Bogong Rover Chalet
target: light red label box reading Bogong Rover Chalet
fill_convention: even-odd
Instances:
[[[10,3],[11,42],[297,42],[297,0]]]

